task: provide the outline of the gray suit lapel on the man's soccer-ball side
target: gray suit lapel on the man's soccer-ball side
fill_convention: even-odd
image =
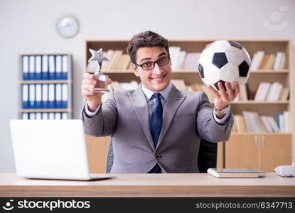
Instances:
[[[163,124],[157,147],[160,145],[161,141],[163,141],[163,138],[169,129],[169,126],[173,120],[174,115],[176,114],[178,107],[181,106],[184,99],[186,99],[186,96],[183,96],[183,94],[181,94],[181,92],[173,85],[163,111]]]

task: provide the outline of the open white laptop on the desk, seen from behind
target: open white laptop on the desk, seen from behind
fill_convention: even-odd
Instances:
[[[102,180],[90,174],[81,120],[11,120],[16,174],[23,178]]]

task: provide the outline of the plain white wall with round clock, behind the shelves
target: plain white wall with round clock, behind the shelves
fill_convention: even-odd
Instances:
[[[280,6],[286,6],[287,10],[280,11]],[[277,23],[289,22],[280,31],[263,25],[263,21],[274,23],[270,18],[274,12],[279,12],[281,17]],[[55,31],[55,22],[67,13],[76,16],[81,25],[80,32],[70,40],[60,38]],[[291,38],[294,41],[294,23],[295,1],[292,0],[0,0],[0,172],[15,171],[9,120],[16,119],[18,111],[17,53],[73,54],[74,118],[77,119],[83,102],[80,82],[85,39],[131,38],[149,29],[167,38]]]

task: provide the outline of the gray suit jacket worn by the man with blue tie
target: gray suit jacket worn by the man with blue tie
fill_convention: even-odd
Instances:
[[[225,125],[215,121],[204,92],[179,91],[174,86],[163,110],[156,148],[141,87],[112,92],[96,116],[88,118],[85,110],[81,116],[86,134],[112,136],[111,173],[148,173],[156,163],[165,173],[198,173],[200,138],[227,141],[233,124],[232,115]]]

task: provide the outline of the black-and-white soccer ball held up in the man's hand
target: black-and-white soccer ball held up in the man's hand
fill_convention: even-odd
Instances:
[[[251,59],[247,50],[232,40],[216,40],[208,45],[200,55],[198,70],[200,79],[206,85],[216,90],[218,82],[230,82],[234,89],[234,82],[241,87],[250,75]]]

